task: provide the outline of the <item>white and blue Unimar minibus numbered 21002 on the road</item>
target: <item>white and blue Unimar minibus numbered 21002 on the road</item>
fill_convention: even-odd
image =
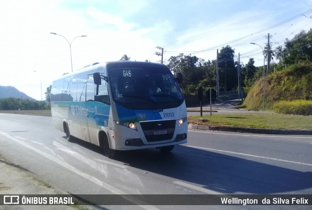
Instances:
[[[170,152],[187,142],[187,111],[175,78],[163,64],[137,61],[95,63],[55,80],[51,89],[54,126],[103,148],[157,148]]]

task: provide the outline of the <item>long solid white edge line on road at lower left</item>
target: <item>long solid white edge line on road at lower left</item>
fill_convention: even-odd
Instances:
[[[13,136],[10,136],[9,134],[3,133],[3,132],[0,132],[0,134],[6,136],[7,138],[10,138],[13,141],[16,141],[17,143],[27,147],[28,149],[30,149],[30,150],[32,150],[32,151],[34,151],[36,153],[41,154],[42,156],[50,159],[51,161],[53,161],[53,162],[63,166],[64,168],[66,168],[66,169],[68,169],[68,170],[70,170],[70,171],[72,171],[72,172],[74,172],[74,173],[76,173],[76,174],[78,174],[80,176],[82,176],[83,178],[85,178],[85,179],[87,179],[87,180],[97,184],[98,186],[100,186],[102,188],[105,188],[108,191],[111,191],[114,194],[120,194],[120,195],[127,194],[126,192],[121,191],[121,190],[119,190],[119,189],[117,189],[117,188],[115,188],[115,187],[113,187],[113,186],[111,186],[111,185],[109,185],[109,184],[107,184],[107,183],[97,179],[96,177],[91,176],[88,173],[82,172],[82,171],[76,169],[75,167],[69,165],[68,163],[63,162],[63,161],[61,161],[61,160],[51,156],[50,154],[44,153],[44,152],[38,150],[37,148],[35,148],[33,146],[30,146],[30,145],[26,144],[25,142],[20,141],[20,140],[18,140],[17,138],[15,138]],[[126,197],[126,199],[128,199],[128,197]],[[142,203],[137,198],[131,198],[129,200],[130,200],[130,202],[133,202],[133,203]],[[140,207],[142,207],[143,209],[146,209],[146,210],[158,210],[156,207],[150,206],[150,205],[147,205],[147,204],[146,205],[138,205],[138,206],[140,206]]]

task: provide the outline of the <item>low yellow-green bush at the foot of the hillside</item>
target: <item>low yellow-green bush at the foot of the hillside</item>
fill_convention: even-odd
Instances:
[[[286,115],[312,115],[311,100],[279,101],[273,105],[274,112]]]

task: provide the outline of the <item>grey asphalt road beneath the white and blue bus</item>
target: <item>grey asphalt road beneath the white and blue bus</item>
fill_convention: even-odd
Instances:
[[[0,114],[0,154],[73,194],[312,194],[311,151],[309,135],[189,131],[188,143],[176,146],[168,155],[147,149],[123,152],[111,160],[96,146],[67,142],[53,127],[51,117]],[[114,208],[120,206],[110,207]],[[173,208],[190,209],[140,207]]]

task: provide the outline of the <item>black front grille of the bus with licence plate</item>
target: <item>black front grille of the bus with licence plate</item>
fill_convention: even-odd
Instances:
[[[140,123],[148,142],[165,141],[173,138],[176,120],[162,120]]]

